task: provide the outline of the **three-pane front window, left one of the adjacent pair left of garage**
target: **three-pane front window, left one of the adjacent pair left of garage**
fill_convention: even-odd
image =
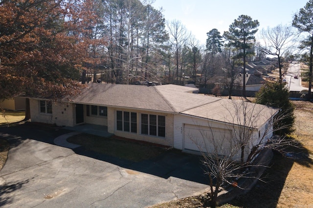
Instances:
[[[123,132],[137,132],[137,113],[116,111],[116,130]]]

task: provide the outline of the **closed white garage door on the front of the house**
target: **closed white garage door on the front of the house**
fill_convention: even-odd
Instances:
[[[202,152],[215,152],[223,155],[229,150],[231,131],[197,125],[184,125],[184,149]]]

